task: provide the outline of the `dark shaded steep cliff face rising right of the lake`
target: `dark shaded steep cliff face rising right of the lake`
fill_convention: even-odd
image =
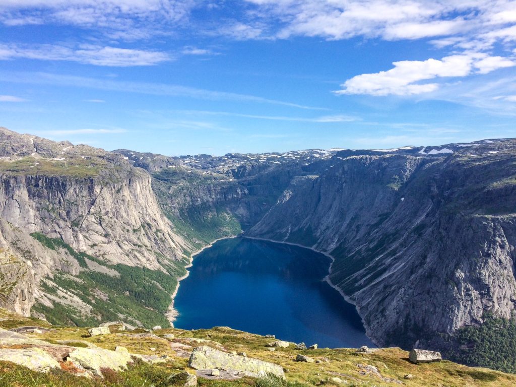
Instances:
[[[441,345],[486,312],[510,318],[516,154],[447,153],[337,154],[248,233],[331,253],[330,280],[379,345]]]

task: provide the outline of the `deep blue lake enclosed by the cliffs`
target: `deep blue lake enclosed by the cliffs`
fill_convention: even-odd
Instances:
[[[228,326],[319,347],[374,346],[353,305],[322,281],[330,259],[297,246],[232,238],[196,255],[174,327]]]

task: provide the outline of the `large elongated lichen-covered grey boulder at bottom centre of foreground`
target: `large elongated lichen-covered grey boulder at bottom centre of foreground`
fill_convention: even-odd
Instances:
[[[235,369],[254,374],[271,373],[281,378],[285,377],[283,368],[277,364],[225,353],[206,346],[193,349],[188,366],[195,369]]]

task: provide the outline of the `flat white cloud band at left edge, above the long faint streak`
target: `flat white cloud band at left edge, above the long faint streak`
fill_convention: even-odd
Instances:
[[[162,52],[119,49],[109,46],[88,45],[71,49],[51,44],[35,46],[0,44],[0,60],[14,58],[66,60],[110,67],[152,66],[171,60],[169,55]]]

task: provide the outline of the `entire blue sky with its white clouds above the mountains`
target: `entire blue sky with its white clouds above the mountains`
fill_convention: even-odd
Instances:
[[[167,155],[516,137],[516,1],[0,0],[0,126]]]

